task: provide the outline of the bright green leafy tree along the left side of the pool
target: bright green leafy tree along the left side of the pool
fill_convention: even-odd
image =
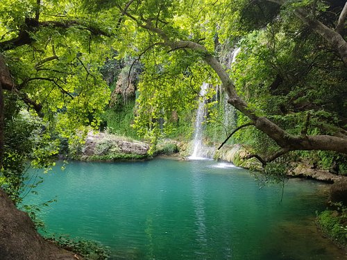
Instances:
[[[87,12],[79,1],[1,1],[0,180],[5,187],[15,183],[15,198],[23,182],[9,182],[22,180],[25,159],[47,166],[58,153],[53,135],[74,140],[98,125],[110,96],[99,71],[110,53],[106,24],[105,15]],[[22,120],[21,110],[40,123]]]

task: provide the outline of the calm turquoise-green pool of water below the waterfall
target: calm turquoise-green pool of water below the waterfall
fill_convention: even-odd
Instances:
[[[100,241],[111,259],[344,259],[312,220],[326,187],[289,180],[260,189],[248,171],[214,161],[71,162],[25,203],[48,232]]]

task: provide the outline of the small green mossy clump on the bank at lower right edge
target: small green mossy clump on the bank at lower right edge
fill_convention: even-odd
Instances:
[[[317,215],[316,223],[321,232],[342,247],[347,247],[347,207],[334,203],[335,209],[327,209]]]

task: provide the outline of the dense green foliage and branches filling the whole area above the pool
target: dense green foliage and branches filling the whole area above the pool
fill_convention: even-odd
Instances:
[[[343,0],[2,0],[0,186],[19,202],[28,162],[48,169],[101,121],[153,145],[189,137],[203,83],[212,141],[248,125],[235,140],[263,165],[300,150],[345,173],[346,13]]]

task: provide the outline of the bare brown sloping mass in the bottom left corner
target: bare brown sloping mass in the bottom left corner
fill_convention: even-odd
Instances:
[[[81,257],[44,240],[28,214],[17,209],[0,189],[0,259],[76,260]]]

